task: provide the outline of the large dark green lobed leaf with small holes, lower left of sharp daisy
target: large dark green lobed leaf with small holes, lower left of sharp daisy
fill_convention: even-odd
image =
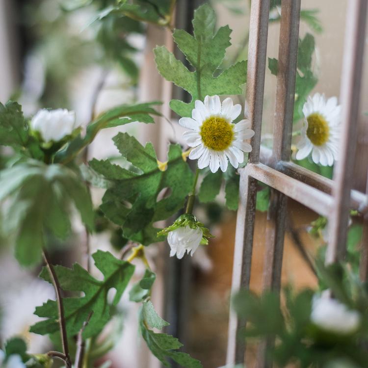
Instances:
[[[170,145],[167,168],[161,171],[151,143],[143,147],[127,133],[119,133],[113,140],[134,168],[124,169],[106,160],[90,162],[93,176],[100,176],[94,183],[108,187],[101,210],[122,226],[124,237],[149,245],[158,241],[158,229],[153,223],[167,219],[184,206],[193,174],[179,145]],[[163,199],[158,198],[160,193]]]

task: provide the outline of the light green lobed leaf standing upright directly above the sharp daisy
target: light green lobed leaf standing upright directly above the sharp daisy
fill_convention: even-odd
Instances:
[[[231,29],[224,26],[214,32],[215,24],[215,12],[204,4],[194,12],[194,36],[183,29],[173,32],[174,41],[194,68],[193,72],[164,46],[154,50],[159,73],[192,96],[189,104],[179,100],[170,102],[170,107],[180,116],[191,116],[194,102],[203,100],[206,95],[242,93],[241,85],[246,81],[246,62],[241,61],[224,71],[219,69],[226,49],[231,45]]]

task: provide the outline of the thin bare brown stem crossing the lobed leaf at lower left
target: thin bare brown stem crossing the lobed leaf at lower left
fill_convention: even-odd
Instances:
[[[53,265],[50,262],[49,255],[45,249],[43,250],[43,256],[47,265],[47,269],[50,273],[51,280],[53,282],[53,287],[55,288],[56,292],[57,311],[59,315],[58,322],[60,327],[60,336],[61,336],[61,343],[63,346],[63,353],[65,355],[65,364],[67,368],[71,368],[72,363],[69,355],[68,336],[66,333],[65,312],[64,312],[63,298],[61,296],[61,287],[55,269],[53,268]]]

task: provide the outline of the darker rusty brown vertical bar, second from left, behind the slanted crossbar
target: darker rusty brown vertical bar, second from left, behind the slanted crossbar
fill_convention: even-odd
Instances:
[[[281,3],[279,59],[273,126],[272,151],[276,168],[280,160],[289,161],[290,159],[299,18],[300,0],[283,0]],[[280,289],[287,202],[288,198],[285,194],[272,189],[266,225],[263,289]],[[272,366],[272,361],[266,358],[266,350],[271,348],[272,345],[272,338],[260,343],[257,367]]]

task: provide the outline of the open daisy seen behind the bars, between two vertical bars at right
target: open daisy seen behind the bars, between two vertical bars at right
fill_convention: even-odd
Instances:
[[[297,144],[299,151],[295,158],[301,160],[312,152],[315,163],[332,166],[338,158],[341,105],[336,97],[326,100],[324,95],[316,93],[308,97],[303,114],[302,138]]]

